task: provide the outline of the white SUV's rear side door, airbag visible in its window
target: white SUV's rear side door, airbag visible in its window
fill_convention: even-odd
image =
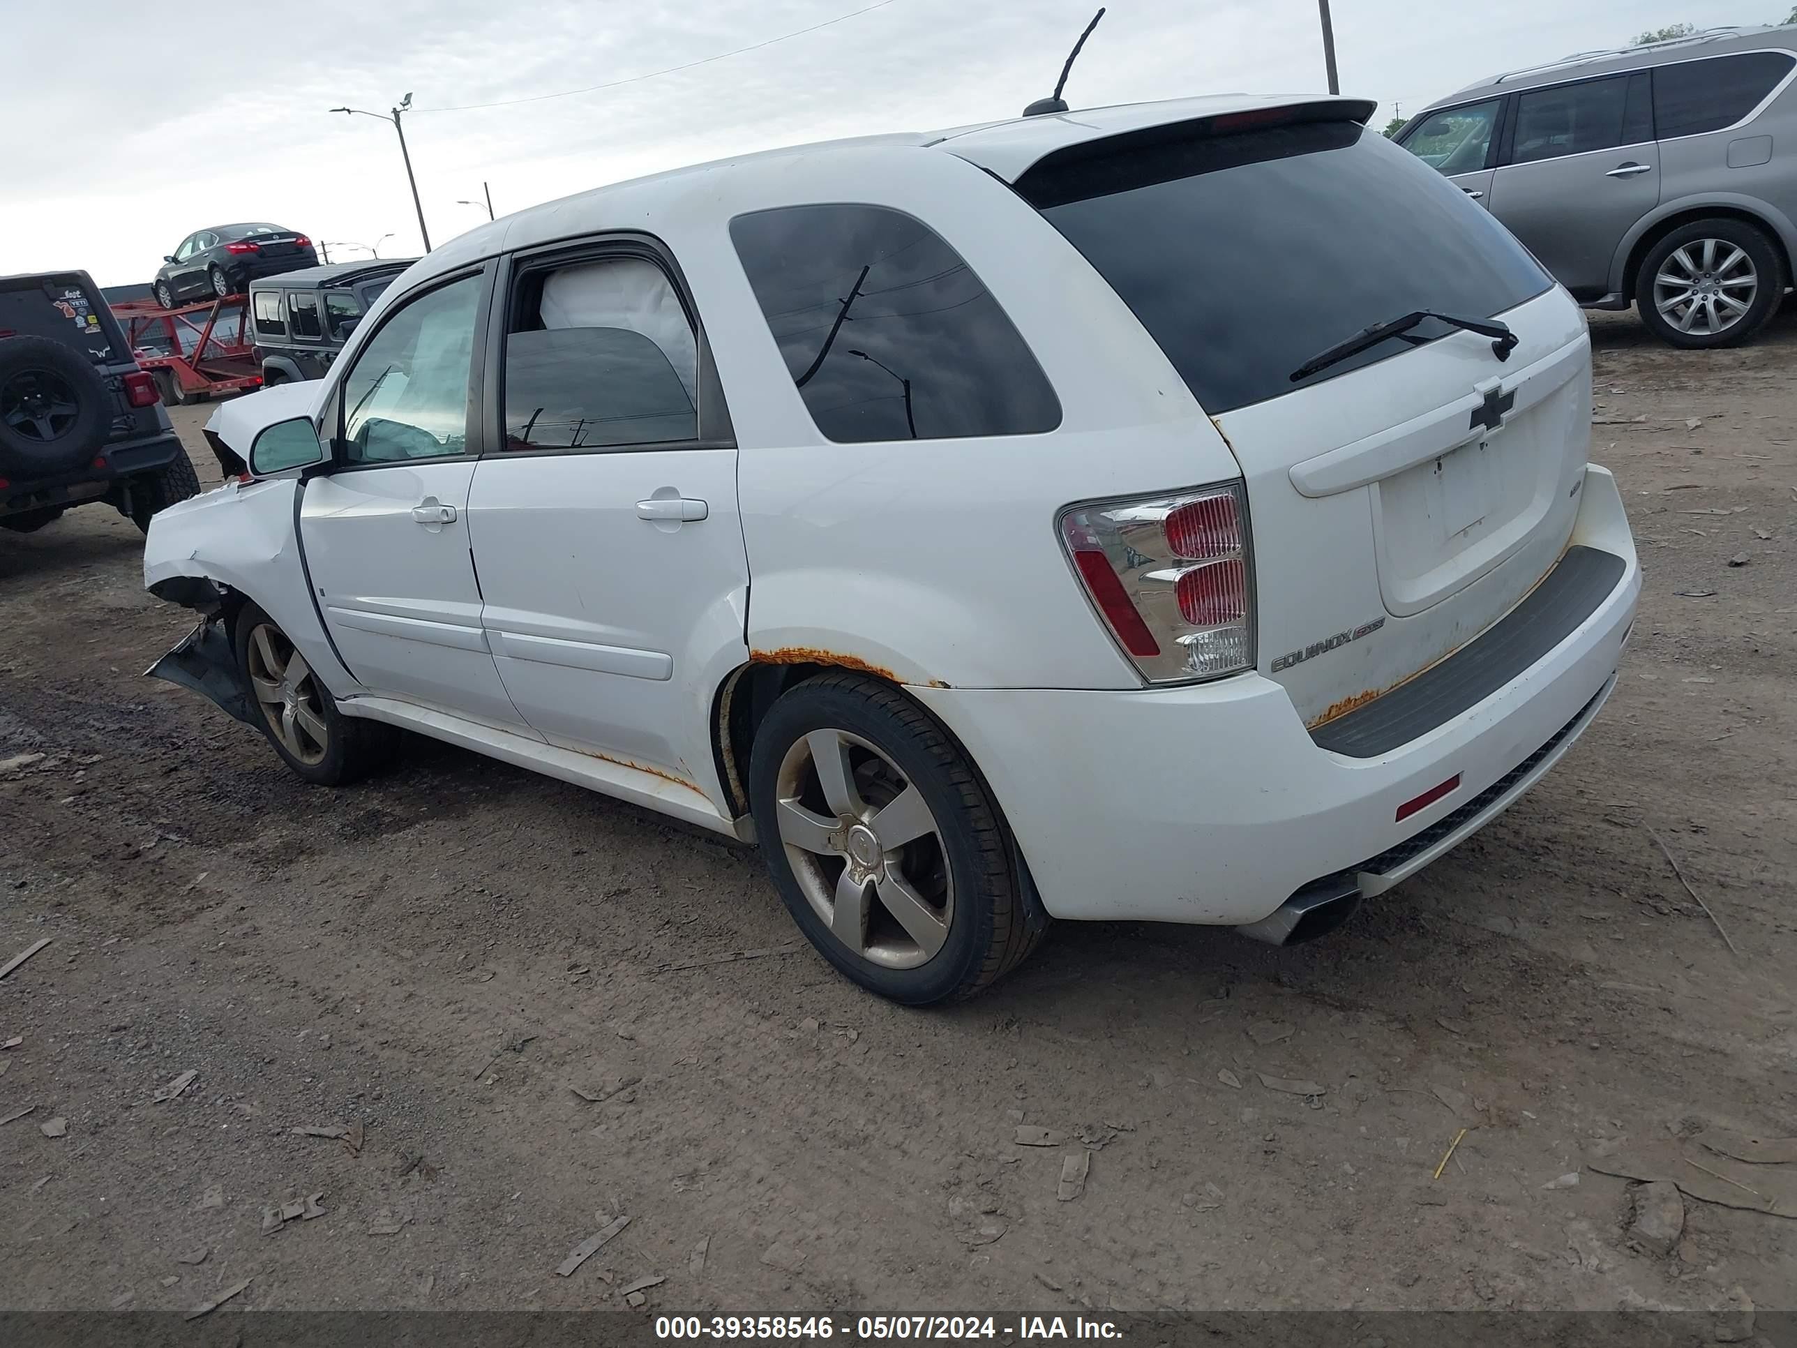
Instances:
[[[647,244],[521,261],[501,329],[469,534],[505,690],[552,744],[704,776],[749,575],[699,329]]]

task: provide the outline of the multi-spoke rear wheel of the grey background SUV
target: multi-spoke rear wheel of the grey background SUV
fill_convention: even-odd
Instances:
[[[1732,347],[1765,327],[1784,295],[1772,241],[1736,219],[1684,225],[1648,250],[1635,306],[1648,329],[1675,347]]]

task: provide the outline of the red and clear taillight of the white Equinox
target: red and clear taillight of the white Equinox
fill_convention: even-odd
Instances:
[[[1150,683],[1254,667],[1242,483],[1076,505],[1060,541],[1105,625]]]

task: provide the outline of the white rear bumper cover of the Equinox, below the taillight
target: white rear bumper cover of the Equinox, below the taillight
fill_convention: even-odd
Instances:
[[[1051,915],[1251,924],[1324,877],[1353,877],[1362,895],[1391,888],[1502,812],[1590,724],[1641,593],[1605,469],[1587,469],[1571,541],[1621,557],[1610,593],[1502,687],[1373,757],[1321,748],[1258,674],[1166,690],[913,692],[974,755]]]

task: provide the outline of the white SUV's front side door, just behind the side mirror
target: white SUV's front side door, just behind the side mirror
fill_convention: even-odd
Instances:
[[[404,302],[356,354],[300,539],[331,640],[363,687],[516,730],[469,554],[469,377],[487,284],[474,273]]]

